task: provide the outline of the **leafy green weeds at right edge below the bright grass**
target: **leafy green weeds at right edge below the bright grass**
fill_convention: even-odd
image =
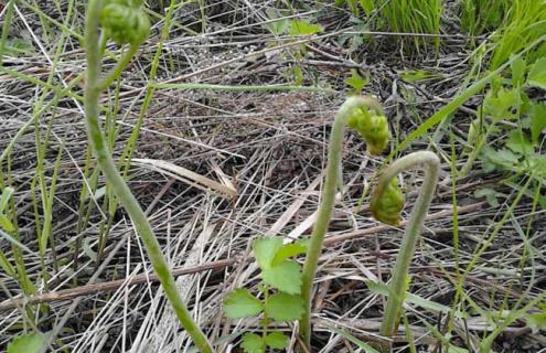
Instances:
[[[485,94],[479,115],[469,129],[467,163],[461,174],[470,172],[475,159],[485,171],[510,171],[516,174],[546,171],[540,153],[540,136],[546,128],[546,105],[531,99],[526,87],[546,88],[546,58],[527,65],[514,61],[510,81],[499,76]],[[490,146],[492,137],[496,146]],[[538,174],[537,174],[538,173]]]

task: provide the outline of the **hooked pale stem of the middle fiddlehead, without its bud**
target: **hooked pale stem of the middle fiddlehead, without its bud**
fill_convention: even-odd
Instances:
[[[322,243],[332,215],[338,182],[341,176],[341,168],[339,165],[341,163],[345,126],[349,122],[351,114],[355,109],[367,110],[370,108],[383,114],[379,104],[374,98],[350,97],[340,107],[333,122],[328,152],[326,180],[322,192],[322,201],[319,206],[318,221],[314,224],[311,235],[311,243],[309,244],[309,249],[307,252],[306,263],[303,264],[301,297],[306,302],[306,310],[300,320],[300,336],[308,351],[311,351],[311,289],[314,274],[317,271],[317,264],[322,252]]]

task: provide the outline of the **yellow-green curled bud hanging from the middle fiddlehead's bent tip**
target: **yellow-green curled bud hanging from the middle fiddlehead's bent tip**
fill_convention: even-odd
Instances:
[[[381,154],[387,148],[390,131],[384,115],[375,111],[371,115],[365,109],[355,109],[349,117],[347,126],[366,141],[370,153]]]

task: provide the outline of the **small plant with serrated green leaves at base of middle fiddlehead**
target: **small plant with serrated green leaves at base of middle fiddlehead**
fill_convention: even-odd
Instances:
[[[306,243],[282,244],[281,237],[254,242],[253,253],[260,269],[259,298],[238,288],[227,295],[224,311],[228,318],[243,319],[263,314],[261,334],[245,333],[242,347],[247,353],[263,353],[266,347],[286,349],[289,340],[280,331],[270,331],[271,321],[296,321],[303,314],[301,265],[290,259],[306,253]]]

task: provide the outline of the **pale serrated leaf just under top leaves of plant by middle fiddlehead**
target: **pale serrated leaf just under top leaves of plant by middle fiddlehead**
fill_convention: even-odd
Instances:
[[[264,281],[281,291],[290,295],[299,295],[301,291],[301,266],[291,260],[270,266],[261,271]]]

